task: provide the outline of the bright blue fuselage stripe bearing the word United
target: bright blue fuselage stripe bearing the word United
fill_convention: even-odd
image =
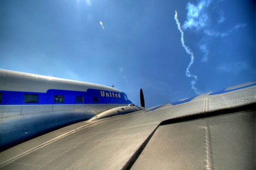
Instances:
[[[68,90],[56,90],[49,89],[46,93],[38,92],[24,92],[24,91],[0,91],[2,94],[2,102],[0,105],[62,105],[62,104],[131,104],[130,100],[125,99],[125,93],[104,91],[97,89],[87,89],[87,91],[68,91]],[[25,94],[38,95],[37,103],[25,103]],[[106,95],[111,94],[111,95]],[[63,103],[55,103],[54,95],[63,95]],[[76,96],[83,96],[83,102],[76,102]],[[93,97],[98,97],[99,100],[93,101]]]

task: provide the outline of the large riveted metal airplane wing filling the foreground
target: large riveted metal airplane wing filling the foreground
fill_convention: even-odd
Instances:
[[[0,153],[0,169],[256,169],[256,82],[79,122]]]

